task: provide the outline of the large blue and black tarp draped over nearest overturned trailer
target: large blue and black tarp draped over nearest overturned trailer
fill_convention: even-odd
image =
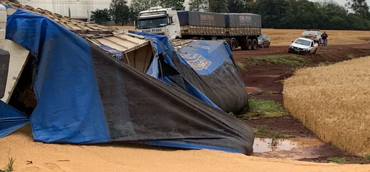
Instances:
[[[252,153],[252,129],[201,101],[207,97],[185,77],[156,77],[165,82],[182,80],[185,88],[169,86],[117,61],[48,18],[20,9],[8,16],[6,29],[6,39],[37,58],[33,79],[37,106],[30,119],[35,141],[135,142]],[[154,38],[158,52],[174,52],[168,40]],[[158,70],[156,62],[149,70]],[[172,61],[167,62],[171,66]],[[0,107],[0,119],[10,119],[0,121],[0,126],[8,126],[0,130],[0,136],[27,122],[27,117],[8,105]],[[15,121],[20,122],[11,124]]]

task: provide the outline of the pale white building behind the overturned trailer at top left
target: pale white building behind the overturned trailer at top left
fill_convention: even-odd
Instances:
[[[96,9],[109,8],[111,0],[18,0],[22,5],[30,5],[34,8],[42,8],[63,16],[70,16],[74,19],[87,21],[90,18],[91,11]],[[188,9],[185,0],[184,6]],[[131,0],[127,0],[130,5]]]

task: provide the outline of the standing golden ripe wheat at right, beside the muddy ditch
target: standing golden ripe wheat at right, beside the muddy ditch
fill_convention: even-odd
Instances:
[[[370,57],[298,70],[283,94],[284,106],[324,142],[370,154]]]

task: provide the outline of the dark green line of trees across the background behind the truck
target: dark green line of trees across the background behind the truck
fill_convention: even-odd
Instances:
[[[135,21],[140,11],[152,6],[185,10],[185,0],[112,0],[110,9],[92,11],[91,21],[116,24]],[[366,0],[189,0],[189,10],[261,15],[262,28],[370,30],[370,7]]]

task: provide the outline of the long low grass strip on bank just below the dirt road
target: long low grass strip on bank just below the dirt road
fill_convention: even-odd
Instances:
[[[252,57],[247,62],[248,65],[257,65],[265,63],[270,65],[288,65],[288,66],[301,66],[305,65],[307,61],[303,56],[299,55],[272,55],[262,57]]]

